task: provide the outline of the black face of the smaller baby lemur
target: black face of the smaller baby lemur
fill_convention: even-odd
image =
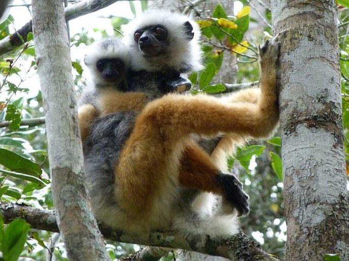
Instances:
[[[125,63],[119,58],[103,58],[96,63],[98,72],[109,83],[123,81],[126,74]]]

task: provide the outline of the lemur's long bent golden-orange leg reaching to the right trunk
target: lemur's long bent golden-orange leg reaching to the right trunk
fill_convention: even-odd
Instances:
[[[115,166],[120,206],[134,215],[143,214],[156,208],[158,199],[175,194],[180,157],[192,133],[269,136],[279,120],[278,51],[278,44],[272,42],[266,42],[260,50],[261,95],[257,103],[227,104],[205,95],[171,94],[148,104],[138,116]]]

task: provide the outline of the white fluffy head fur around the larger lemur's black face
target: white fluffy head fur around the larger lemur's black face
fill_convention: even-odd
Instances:
[[[189,21],[194,28],[194,38],[191,41],[186,39],[183,30],[183,24],[186,21]],[[166,55],[145,57],[139,50],[137,42],[133,39],[133,34],[137,29],[156,24],[161,24],[167,28],[171,50]],[[167,10],[147,10],[124,26],[124,43],[130,47],[131,67],[137,71],[155,72],[171,68],[185,72],[202,69],[199,39],[200,29],[195,21]]]

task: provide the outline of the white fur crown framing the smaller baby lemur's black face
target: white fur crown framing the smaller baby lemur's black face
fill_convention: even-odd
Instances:
[[[84,57],[85,65],[90,71],[90,79],[95,85],[105,85],[101,73],[97,70],[97,60],[119,58],[125,63],[126,70],[130,64],[130,54],[126,45],[119,38],[106,38],[87,47]]]

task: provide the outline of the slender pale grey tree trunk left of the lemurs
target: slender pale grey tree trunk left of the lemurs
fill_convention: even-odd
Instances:
[[[70,260],[109,260],[84,187],[83,151],[63,5],[56,0],[33,0],[32,4],[58,226]]]

